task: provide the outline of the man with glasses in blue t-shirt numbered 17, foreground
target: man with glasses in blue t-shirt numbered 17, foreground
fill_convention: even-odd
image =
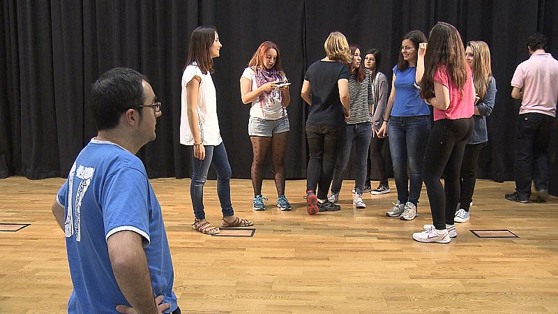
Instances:
[[[93,84],[98,135],[77,156],[52,213],[66,234],[68,313],[180,313],[161,208],[135,156],[161,116],[151,85],[129,68]]]

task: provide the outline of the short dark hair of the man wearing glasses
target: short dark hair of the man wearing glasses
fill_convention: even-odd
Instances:
[[[91,87],[89,108],[97,130],[110,130],[118,125],[123,112],[139,108],[145,102],[142,81],[145,75],[131,68],[113,68],[103,73]],[[140,112],[140,119],[142,110]]]

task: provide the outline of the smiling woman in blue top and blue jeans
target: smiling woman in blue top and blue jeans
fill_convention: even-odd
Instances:
[[[393,67],[391,94],[384,113],[379,137],[389,133],[393,177],[397,187],[397,203],[386,216],[413,220],[423,186],[422,163],[430,134],[430,109],[418,95],[424,68],[417,73],[418,44],[426,43],[421,31],[409,31],[401,43],[399,61]],[[387,124],[387,126],[386,126]],[[407,164],[410,183],[407,182]]]

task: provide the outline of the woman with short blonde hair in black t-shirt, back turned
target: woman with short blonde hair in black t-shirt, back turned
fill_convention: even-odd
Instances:
[[[304,76],[301,97],[308,105],[306,139],[310,160],[306,170],[306,202],[308,214],[338,211],[339,205],[327,200],[329,185],[339,147],[349,117],[349,68],[352,61],[347,38],[330,33],[324,43],[326,57],[312,63]],[[319,190],[316,189],[319,186]]]

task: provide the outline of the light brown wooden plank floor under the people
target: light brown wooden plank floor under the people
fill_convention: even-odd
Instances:
[[[0,313],[63,313],[72,289],[63,232],[50,206],[62,179],[0,180]],[[236,214],[255,221],[254,237],[210,237],[190,226],[189,179],[153,179],[183,313],[558,312],[558,199],[504,200],[513,182],[479,180],[470,223],[450,244],[421,244],[412,232],[431,223],[425,190],[413,221],[387,218],[392,193],[342,210],[306,214],[306,181],[287,181],[293,211],[279,211],[273,181],[266,211],[251,208],[248,180],[232,180]],[[219,223],[215,181],[206,184],[208,219]],[[0,225],[1,227],[1,225]],[[479,239],[469,230],[508,229],[519,238]]]

